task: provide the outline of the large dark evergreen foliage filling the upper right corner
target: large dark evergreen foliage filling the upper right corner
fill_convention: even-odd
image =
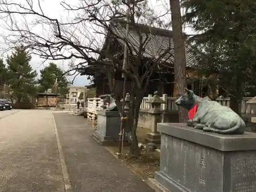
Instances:
[[[199,33],[192,38],[201,53],[199,68],[218,74],[231,109],[240,114],[245,86],[256,72],[256,2],[183,0],[182,5],[185,22]]]

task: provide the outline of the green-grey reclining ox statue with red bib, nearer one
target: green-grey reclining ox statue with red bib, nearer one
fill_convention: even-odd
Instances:
[[[187,110],[196,106],[194,117],[187,121],[187,125],[194,129],[230,135],[242,135],[246,130],[243,119],[228,106],[200,98],[186,88],[185,94],[178,98],[175,104],[183,106]]]

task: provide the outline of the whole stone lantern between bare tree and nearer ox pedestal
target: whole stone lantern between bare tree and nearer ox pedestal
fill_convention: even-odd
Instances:
[[[148,111],[148,115],[151,116],[151,133],[148,134],[148,137],[145,139],[147,142],[152,143],[160,143],[161,142],[161,136],[157,131],[157,123],[160,123],[162,121],[162,113],[161,110],[161,104],[166,103],[163,99],[160,98],[158,95],[158,92],[154,92],[154,96],[150,98],[148,103],[151,103],[151,109]]]

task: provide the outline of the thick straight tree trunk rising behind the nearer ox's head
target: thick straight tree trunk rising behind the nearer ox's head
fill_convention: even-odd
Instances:
[[[185,60],[185,37],[182,33],[181,13],[179,0],[170,0],[172,12],[172,28],[174,36],[174,73],[177,98],[183,95],[186,87],[186,60]],[[186,122],[187,111],[181,107],[179,110],[179,122]]]

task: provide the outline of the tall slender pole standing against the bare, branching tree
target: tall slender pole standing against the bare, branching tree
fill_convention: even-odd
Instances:
[[[130,0],[128,0],[128,5],[130,5]],[[128,7],[126,11],[126,32],[125,32],[125,38],[127,39],[129,35],[129,17],[130,17],[130,7]],[[123,53],[123,70],[127,69],[128,65],[128,46],[127,43],[124,45],[124,53]],[[122,113],[121,113],[121,124],[120,124],[120,132],[119,132],[119,147],[118,147],[118,157],[122,155],[122,138],[123,138],[123,121],[125,120],[125,114],[124,114],[124,105],[125,105],[125,95],[126,95],[126,84],[127,84],[127,75],[125,73],[122,73],[123,79],[123,101],[122,101]]]

